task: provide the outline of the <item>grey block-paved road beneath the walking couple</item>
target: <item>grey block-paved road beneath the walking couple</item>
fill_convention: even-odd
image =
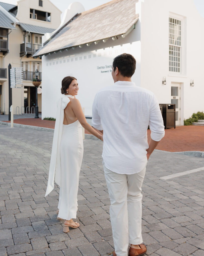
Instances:
[[[113,251],[102,143],[84,141],[77,214],[80,228],[62,232],[59,188],[46,198],[52,132],[0,125],[0,256],[96,256]],[[147,255],[204,255],[204,172],[159,177],[204,166],[204,159],[155,151],[143,183]]]

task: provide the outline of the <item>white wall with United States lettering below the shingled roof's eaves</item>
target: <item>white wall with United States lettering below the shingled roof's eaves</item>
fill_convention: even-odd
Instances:
[[[99,89],[114,83],[111,76],[113,58],[124,52],[131,52],[137,60],[132,81],[140,86],[140,41],[138,39],[138,30],[133,29],[128,36],[120,37],[115,41],[109,39],[106,43],[101,41],[97,45],[93,43],[91,46],[84,46],[81,49],[78,47],[74,50],[65,50],[62,53],[43,56],[42,118],[55,117],[56,102],[60,97],[61,81],[65,76],[77,78],[79,83],[77,98],[82,107],[85,108],[85,115],[92,116],[94,96]],[[91,58],[89,58],[89,55],[91,55]],[[86,59],[84,59],[84,56],[86,56]],[[57,61],[58,64],[56,64]],[[106,68],[106,66],[110,67]],[[98,69],[97,67],[105,68]]]

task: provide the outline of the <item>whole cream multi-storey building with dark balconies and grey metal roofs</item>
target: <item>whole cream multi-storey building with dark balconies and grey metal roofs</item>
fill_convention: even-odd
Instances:
[[[42,47],[42,36],[60,25],[61,11],[49,0],[19,0],[17,5],[0,2],[0,114],[9,113],[8,65],[23,68],[23,86],[12,88],[14,113],[34,110],[35,70],[41,79],[41,59],[32,55]],[[42,84],[41,84],[42,86]],[[41,111],[41,94],[38,94]]]

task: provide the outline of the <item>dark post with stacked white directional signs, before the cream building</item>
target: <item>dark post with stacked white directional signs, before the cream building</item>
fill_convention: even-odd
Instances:
[[[12,105],[12,88],[21,88],[23,80],[23,68],[11,68],[8,65],[8,91],[9,91],[9,109]],[[11,121],[11,112],[8,114],[8,121]]]

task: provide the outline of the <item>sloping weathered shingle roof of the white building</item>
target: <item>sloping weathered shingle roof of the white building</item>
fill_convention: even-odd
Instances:
[[[73,17],[34,56],[125,34],[138,20],[138,0],[113,0]]]

